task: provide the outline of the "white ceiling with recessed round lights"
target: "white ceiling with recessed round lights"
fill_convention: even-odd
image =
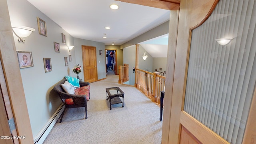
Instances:
[[[74,38],[103,42],[105,45],[124,44],[170,18],[169,10],[116,0],[28,0],[28,2]],[[119,8],[112,10],[109,7],[111,4],[117,4]],[[110,29],[106,30],[106,26]],[[103,38],[105,34],[107,38]],[[154,39],[153,42],[156,41]],[[146,50],[151,53],[150,46],[146,46]],[[164,53],[167,54],[167,48]]]

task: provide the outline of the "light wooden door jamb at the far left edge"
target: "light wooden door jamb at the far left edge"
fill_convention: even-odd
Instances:
[[[0,58],[3,73],[1,75],[1,89],[4,87],[7,89],[7,92],[2,94],[10,100],[9,106],[12,109],[17,135],[26,136],[25,139],[18,139],[18,142],[21,144],[33,144],[33,134],[14,44],[7,0],[0,1],[0,8]],[[14,140],[14,142],[16,141]]]

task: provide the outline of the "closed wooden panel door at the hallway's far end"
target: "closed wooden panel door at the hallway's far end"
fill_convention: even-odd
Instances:
[[[96,82],[98,80],[96,47],[82,46],[82,58],[84,67],[84,81]]]

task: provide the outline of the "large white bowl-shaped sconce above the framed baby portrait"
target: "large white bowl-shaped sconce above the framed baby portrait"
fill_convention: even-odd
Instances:
[[[35,29],[29,28],[26,26],[12,26],[12,31],[16,36],[18,36],[19,42],[25,42],[23,38],[26,38],[27,36],[29,36],[32,32],[35,31]]]

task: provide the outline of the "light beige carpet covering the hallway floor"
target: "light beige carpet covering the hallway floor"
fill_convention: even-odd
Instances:
[[[107,87],[124,92],[122,104],[106,100]],[[161,144],[160,108],[132,86],[118,84],[118,76],[90,84],[88,119],[84,108],[67,109],[43,144]]]

